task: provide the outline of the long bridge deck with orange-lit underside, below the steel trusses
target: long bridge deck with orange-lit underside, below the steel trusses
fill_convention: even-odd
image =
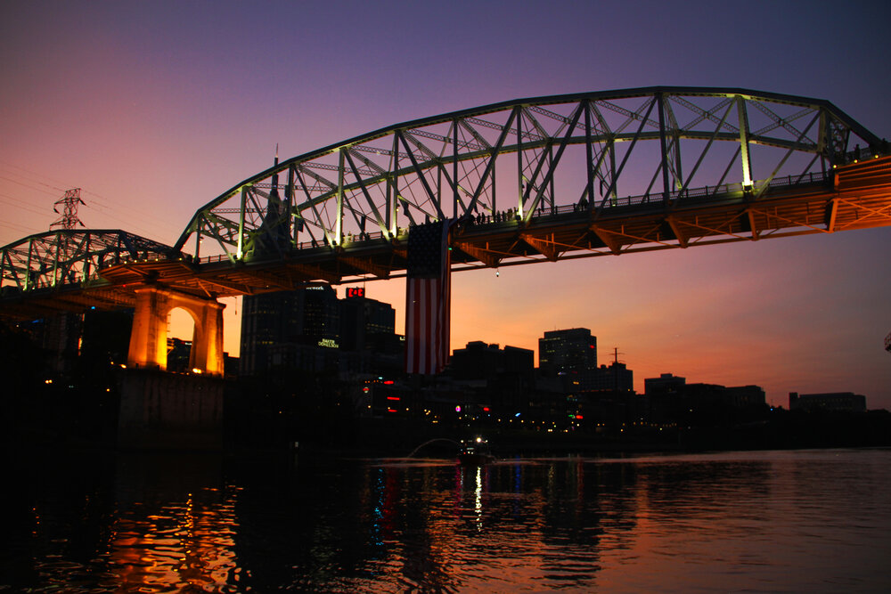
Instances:
[[[699,195],[697,195],[699,194]],[[891,225],[891,157],[839,167],[826,179],[781,180],[761,196],[722,187],[683,197],[619,199],[608,207],[559,207],[517,220],[465,221],[452,238],[453,271],[533,264],[729,241]],[[92,287],[63,285],[4,297],[0,316],[36,318],[58,311],[131,306],[147,283],[205,297],[294,289],[307,282],[339,283],[403,275],[403,232],[366,236],[338,248],[303,244],[251,262],[223,258],[135,261],[102,270]]]

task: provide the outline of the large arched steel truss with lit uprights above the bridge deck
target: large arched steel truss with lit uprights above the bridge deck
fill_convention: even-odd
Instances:
[[[528,224],[569,205],[596,218],[702,191],[758,199],[776,179],[827,175],[857,150],[886,154],[887,143],[830,102],[791,95],[648,87],[503,102],[277,163],[200,207],[174,251],[234,263],[398,241],[444,217]]]

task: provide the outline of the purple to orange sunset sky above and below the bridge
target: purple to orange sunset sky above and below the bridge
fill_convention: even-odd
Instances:
[[[80,219],[168,244],[282,159],[539,95],[744,87],[891,138],[886,2],[0,3],[0,245]],[[643,379],[866,395],[891,409],[891,228],[454,275],[452,346],[584,327]],[[404,281],[368,297],[396,306]],[[343,296],[343,288],[339,295]],[[225,347],[240,305],[227,300]],[[186,337],[191,338],[191,337]]]

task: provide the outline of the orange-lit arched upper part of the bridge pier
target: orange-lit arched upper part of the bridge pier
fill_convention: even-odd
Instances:
[[[170,310],[182,307],[195,322],[190,367],[209,375],[223,375],[225,305],[216,299],[202,299],[159,287],[144,287],[135,292],[128,366],[167,370],[168,314]]]

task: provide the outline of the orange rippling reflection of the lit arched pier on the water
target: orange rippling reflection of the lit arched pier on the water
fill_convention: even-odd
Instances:
[[[218,458],[121,456],[115,492],[108,565],[119,586],[227,591],[240,582],[238,488],[223,486]]]

